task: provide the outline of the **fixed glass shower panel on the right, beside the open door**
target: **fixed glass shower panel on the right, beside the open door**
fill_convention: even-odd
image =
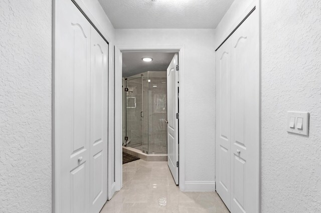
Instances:
[[[167,154],[167,72],[148,72],[148,153]]]

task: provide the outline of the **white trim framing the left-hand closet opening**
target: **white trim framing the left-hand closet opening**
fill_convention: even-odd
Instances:
[[[107,40],[108,43],[108,167],[107,167],[107,177],[108,177],[108,183],[107,183],[107,199],[110,199],[111,196],[116,191],[116,182],[113,181],[114,178],[111,176],[112,172],[111,169],[114,168],[114,165],[112,165],[113,160],[111,157],[113,156],[113,150],[111,149],[111,141],[114,141],[114,104],[113,97],[114,97],[114,73],[113,70],[113,48],[112,44],[109,42],[111,41],[110,37],[108,36],[108,33],[103,29],[101,24],[98,22],[98,20],[95,18],[95,16],[90,12],[89,8],[86,6],[84,0],[71,0],[75,5],[80,9],[80,11],[84,14],[84,16],[88,19],[88,21],[96,27],[96,30],[101,33],[101,35],[104,37],[105,40]],[[57,93],[56,93],[56,78],[59,74],[59,55],[57,55],[57,51],[55,49],[59,48],[59,42],[56,39],[57,37],[57,30],[58,30],[58,22],[57,22],[57,16],[59,14],[59,11],[56,10],[56,8],[59,8],[59,4],[62,3],[62,0],[53,0],[53,18],[52,18],[52,29],[53,29],[53,48],[52,48],[52,212],[58,211],[58,191],[59,191],[59,156],[58,156],[58,150],[59,150],[59,143],[56,141],[55,138],[58,138],[58,134],[55,131],[56,129],[56,104],[57,102]]]

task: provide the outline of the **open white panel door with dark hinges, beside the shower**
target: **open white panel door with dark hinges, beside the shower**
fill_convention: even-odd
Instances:
[[[167,68],[167,154],[168,165],[174,177],[175,183],[179,184],[179,120],[176,113],[179,112],[178,107],[178,89],[179,89],[179,71],[176,70],[178,65],[178,54],[175,54],[169,67]]]

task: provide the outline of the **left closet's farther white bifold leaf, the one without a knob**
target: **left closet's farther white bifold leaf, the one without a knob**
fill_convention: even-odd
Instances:
[[[99,212],[107,201],[108,44],[92,26],[90,50],[90,212]]]

